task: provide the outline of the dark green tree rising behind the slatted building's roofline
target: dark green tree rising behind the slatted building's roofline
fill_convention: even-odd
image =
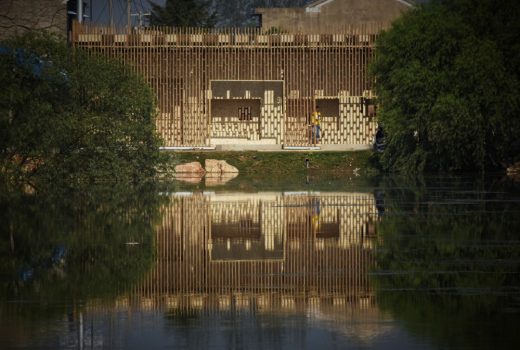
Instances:
[[[171,27],[213,27],[215,13],[206,0],[166,0],[163,6],[150,2],[153,26]]]

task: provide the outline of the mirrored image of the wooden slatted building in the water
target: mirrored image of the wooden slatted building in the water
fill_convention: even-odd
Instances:
[[[319,225],[313,218],[319,202]],[[368,193],[173,195],[141,307],[370,307]],[[131,302],[131,300],[125,303]]]

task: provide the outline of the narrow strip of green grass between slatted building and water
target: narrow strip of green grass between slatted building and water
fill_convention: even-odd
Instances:
[[[206,159],[226,160],[241,174],[291,174],[332,172],[366,174],[376,171],[371,151],[355,152],[164,152],[169,168]]]

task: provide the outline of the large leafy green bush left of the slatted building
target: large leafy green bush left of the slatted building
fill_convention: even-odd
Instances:
[[[12,181],[137,180],[154,174],[159,140],[150,88],[121,64],[28,33],[2,43],[0,169]],[[14,50],[44,61],[41,76]]]

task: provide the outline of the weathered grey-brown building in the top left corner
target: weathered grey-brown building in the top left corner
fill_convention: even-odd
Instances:
[[[67,0],[0,0],[0,39],[44,29],[67,35]]]

